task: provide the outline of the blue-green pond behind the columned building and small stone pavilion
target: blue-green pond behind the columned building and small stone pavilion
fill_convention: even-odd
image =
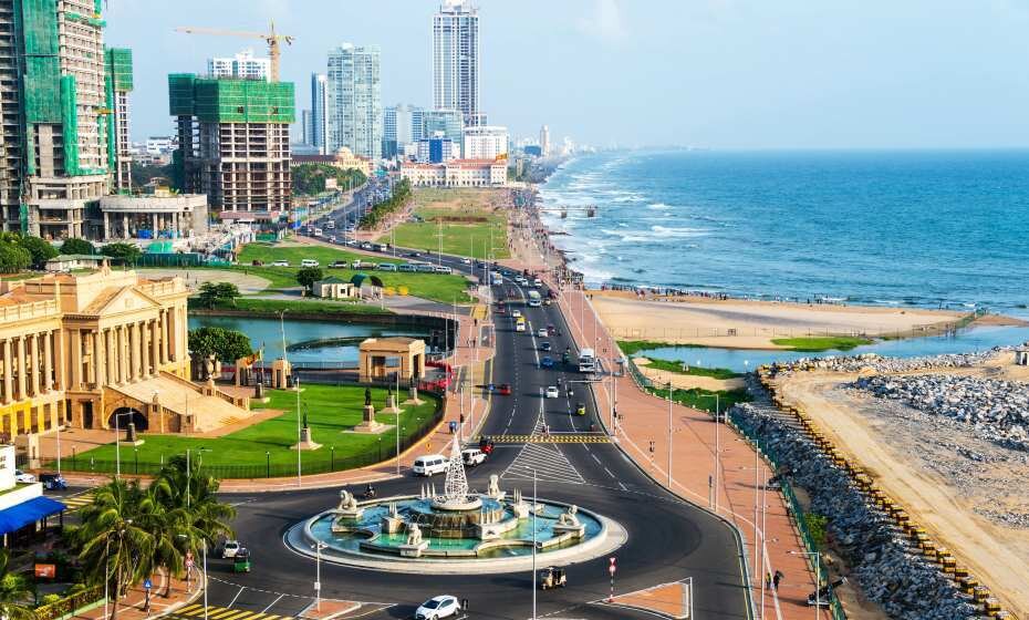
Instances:
[[[240,317],[189,317],[189,329],[214,327],[238,330],[250,337],[254,350],[264,348],[264,359],[282,356],[282,331],[278,319]],[[356,362],[357,347],[365,338],[409,335],[429,338],[429,331],[417,327],[334,323],[331,321],[284,322],[285,341],[291,362]]]

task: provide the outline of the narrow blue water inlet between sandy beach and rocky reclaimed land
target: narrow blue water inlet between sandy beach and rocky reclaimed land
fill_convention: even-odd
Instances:
[[[678,360],[690,365],[724,368],[747,372],[761,364],[788,362],[801,358],[825,358],[829,355],[860,355],[877,353],[894,358],[917,358],[946,353],[973,353],[994,347],[1020,344],[1029,341],[1029,328],[985,326],[960,330],[956,335],[929,335],[902,340],[883,340],[856,347],[849,351],[757,351],[750,349],[717,349],[705,347],[662,347],[647,349],[637,355],[657,360]]]

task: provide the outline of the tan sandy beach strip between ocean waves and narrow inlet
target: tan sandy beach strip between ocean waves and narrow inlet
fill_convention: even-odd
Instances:
[[[883,308],[715,300],[638,299],[623,291],[592,291],[593,306],[621,340],[656,340],[730,349],[783,349],[773,338],[815,335],[927,335],[963,313]],[[732,331],[735,330],[735,331]]]

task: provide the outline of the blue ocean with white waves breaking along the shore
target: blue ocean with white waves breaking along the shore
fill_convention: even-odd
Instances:
[[[541,197],[591,285],[1029,316],[1029,151],[610,152]]]

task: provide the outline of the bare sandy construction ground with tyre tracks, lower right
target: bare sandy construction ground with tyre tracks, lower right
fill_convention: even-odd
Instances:
[[[1029,496],[1020,488],[1029,479],[1029,458],[902,404],[839,388],[855,376],[799,373],[780,380],[779,393],[788,403],[803,406],[838,446],[901,499],[913,519],[998,598],[1019,613],[1029,611],[1025,577],[1029,531],[1005,527],[981,514],[1001,505],[1029,512]],[[969,462],[955,445],[996,461]]]

